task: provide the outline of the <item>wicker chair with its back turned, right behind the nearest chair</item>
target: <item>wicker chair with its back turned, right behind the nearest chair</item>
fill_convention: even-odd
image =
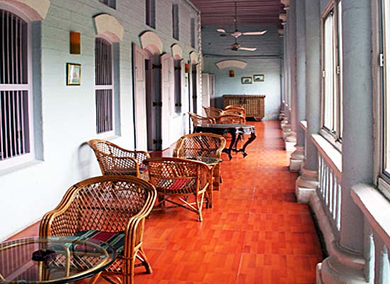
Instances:
[[[195,212],[198,221],[202,222],[204,194],[210,180],[210,170],[206,163],[168,157],[150,158],[144,163],[147,165],[150,183],[155,185],[159,195],[160,209],[172,208],[166,206],[166,202],[169,202],[174,207]],[[195,201],[190,203],[191,195]]]

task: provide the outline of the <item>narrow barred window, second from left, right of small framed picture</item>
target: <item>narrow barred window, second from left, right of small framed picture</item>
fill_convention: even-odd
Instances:
[[[104,38],[95,40],[96,133],[113,134],[112,45]]]

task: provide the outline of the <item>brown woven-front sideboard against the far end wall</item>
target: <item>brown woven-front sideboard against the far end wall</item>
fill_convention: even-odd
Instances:
[[[243,107],[247,117],[261,120],[264,117],[265,94],[224,94],[223,107],[235,104]]]

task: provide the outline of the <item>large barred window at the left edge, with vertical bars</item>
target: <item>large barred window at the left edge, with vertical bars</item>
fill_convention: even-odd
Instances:
[[[0,9],[0,161],[32,153],[28,23]]]

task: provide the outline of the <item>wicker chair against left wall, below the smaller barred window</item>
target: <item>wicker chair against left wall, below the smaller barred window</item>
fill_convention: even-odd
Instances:
[[[147,180],[143,160],[150,158],[145,151],[130,151],[109,141],[93,139],[88,142],[94,150],[103,175],[133,175]]]

